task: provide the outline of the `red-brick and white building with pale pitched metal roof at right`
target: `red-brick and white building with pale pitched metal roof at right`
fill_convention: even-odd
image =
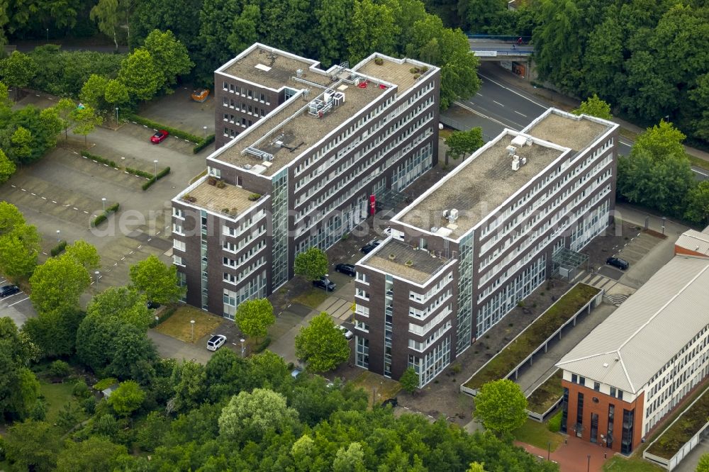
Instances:
[[[559,361],[562,430],[630,454],[709,375],[709,259],[676,256]]]

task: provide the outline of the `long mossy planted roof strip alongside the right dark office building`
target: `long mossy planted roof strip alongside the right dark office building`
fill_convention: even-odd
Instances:
[[[478,373],[465,383],[465,386],[476,389],[484,383],[505,378],[525,357],[549,339],[554,331],[571,319],[582,306],[598,295],[599,291],[598,288],[585,283],[579,283],[571,288],[554,305],[542,313],[535,322],[521,332],[517,339],[490,359]]]

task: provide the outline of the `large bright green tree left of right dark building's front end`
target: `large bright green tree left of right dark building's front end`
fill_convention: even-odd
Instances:
[[[350,343],[323,311],[296,335],[296,356],[308,362],[308,370],[325,372],[350,359]]]

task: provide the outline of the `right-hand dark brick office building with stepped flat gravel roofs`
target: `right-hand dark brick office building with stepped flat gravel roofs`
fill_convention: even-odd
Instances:
[[[504,130],[391,220],[357,264],[357,366],[420,385],[610,222],[618,125],[549,109]]]

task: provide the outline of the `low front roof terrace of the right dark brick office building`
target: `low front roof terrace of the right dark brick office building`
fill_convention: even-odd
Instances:
[[[450,259],[432,257],[426,251],[389,238],[363,264],[415,283],[426,283]]]

